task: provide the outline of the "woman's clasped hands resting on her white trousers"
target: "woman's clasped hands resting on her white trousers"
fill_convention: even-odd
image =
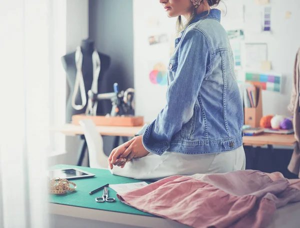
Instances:
[[[115,151],[111,151],[108,158],[108,162],[110,159],[110,169],[112,169],[112,164],[124,167],[125,163],[130,161],[133,157],[144,157],[148,153],[142,144],[142,135],[138,135],[123,145],[116,147]]]

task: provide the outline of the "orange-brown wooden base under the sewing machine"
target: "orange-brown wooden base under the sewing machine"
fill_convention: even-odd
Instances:
[[[72,123],[79,125],[82,119],[91,119],[98,126],[140,126],[144,124],[143,116],[104,116],[104,115],[72,115]]]

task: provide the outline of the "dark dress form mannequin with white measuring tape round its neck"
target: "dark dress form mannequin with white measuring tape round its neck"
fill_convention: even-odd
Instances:
[[[92,53],[94,51],[94,42],[91,39],[83,39],[81,41],[81,52],[82,52],[82,76],[83,76],[83,81],[84,81],[84,87],[85,87],[85,97],[87,97],[87,91],[91,88],[92,80],[93,80],[93,62],[92,62]],[[76,72],[77,72],[77,67],[76,67],[76,61],[75,61],[75,51],[68,53],[64,56],[61,57],[62,65],[66,71],[66,79],[67,79],[67,84],[69,86],[69,96],[66,102],[66,122],[71,122],[71,117],[74,114],[80,114],[84,113],[86,110],[86,105],[80,109],[76,110],[72,106],[72,95],[74,92],[74,87],[75,87],[75,79],[76,79]],[[103,75],[105,71],[108,69],[110,65],[110,57],[106,54],[98,52],[99,58],[100,58],[100,73],[98,77],[98,92],[100,91],[100,82],[103,78]],[[80,91],[76,93],[75,96],[75,103],[76,104],[82,104],[81,96],[80,96]],[[101,103],[99,103],[97,107],[97,115],[104,115],[105,113],[103,110],[101,110]],[[103,113],[102,113],[103,112]]]

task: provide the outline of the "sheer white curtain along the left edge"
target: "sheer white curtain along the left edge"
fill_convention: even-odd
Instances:
[[[0,1],[0,228],[48,226],[46,157],[57,72],[52,6]]]

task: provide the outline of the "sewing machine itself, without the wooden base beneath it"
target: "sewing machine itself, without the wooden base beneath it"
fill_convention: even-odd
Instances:
[[[110,116],[129,115],[129,111],[134,110],[134,89],[128,88],[125,91],[119,91],[118,84],[113,84],[113,92],[109,93],[94,93],[88,90],[87,115],[96,115],[97,102],[99,100],[109,99],[112,104]]]

